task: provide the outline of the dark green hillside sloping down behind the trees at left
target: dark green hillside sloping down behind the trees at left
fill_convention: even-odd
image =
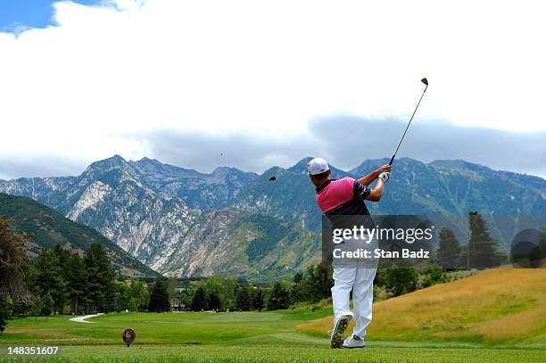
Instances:
[[[11,220],[18,233],[31,236],[26,244],[30,257],[57,243],[70,251],[83,253],[96,242],[103,244],[114,267],[123,275],[158,276],[95,229],[79,225],[32,199],[0,193],[0,215]]]

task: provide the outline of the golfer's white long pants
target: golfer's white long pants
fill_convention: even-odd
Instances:
[[[342,315],[352,315],[356,326],[352,334],[364,339],[366,327],[372,318],[372,302],[374,300],[374,277],[377,268],[369,264],[354,262],[354,266],[334,267],[334,287],[332,287],[332,301],[334,305],[334,326]],[[352,290],[351,312],[350,296]]]

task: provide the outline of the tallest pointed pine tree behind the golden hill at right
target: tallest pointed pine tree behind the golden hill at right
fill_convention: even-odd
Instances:
[[[492,239],[484,218],[477,211],[468,213],[470,239],[468,240],[467,268],[490,268],[499,266],[501,254],[499,241]]]

